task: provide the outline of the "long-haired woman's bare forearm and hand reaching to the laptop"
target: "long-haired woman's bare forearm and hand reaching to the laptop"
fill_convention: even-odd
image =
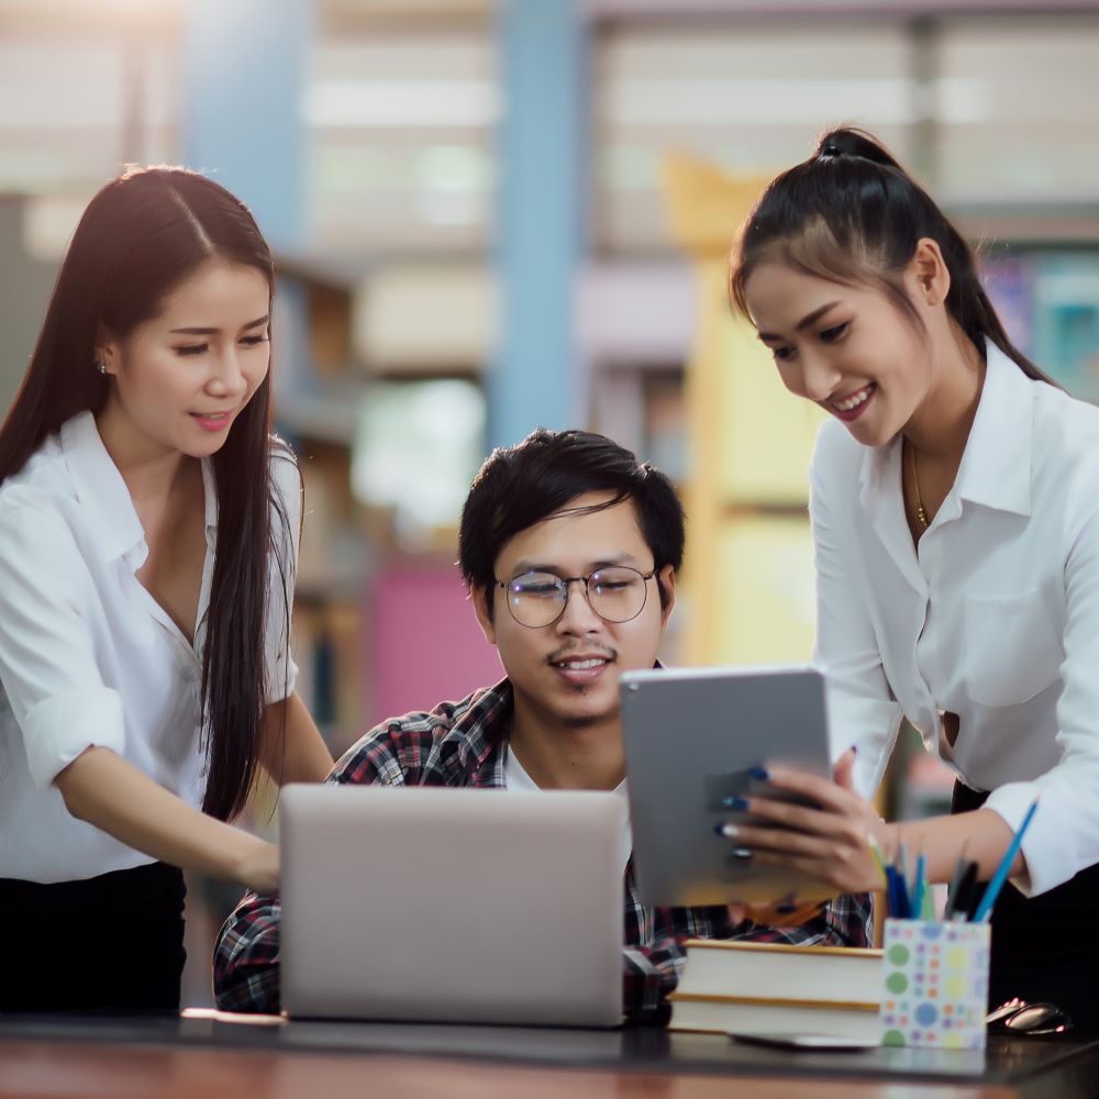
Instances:
[[[110,748],[87,748],[55,784],[74,817],[153,858],[245,885],[277,879],[270,844],[199,812]]]

